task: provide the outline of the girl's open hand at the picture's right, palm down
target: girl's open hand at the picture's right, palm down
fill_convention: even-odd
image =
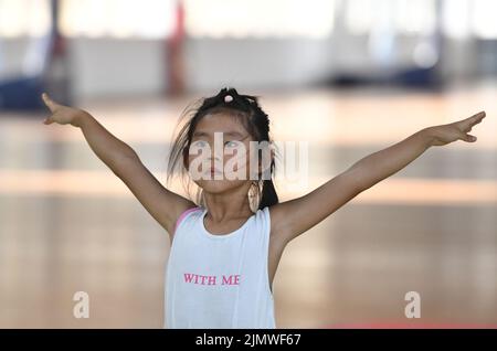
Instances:
[[[473,126],[479,124],[485,118],[485,111],[480,111],[469,118],[454,121],[448,125],[429,127],[429,131],[433,137],[432,146],[443,146],[456,140],[475,142],[476,137],[469,135]]]

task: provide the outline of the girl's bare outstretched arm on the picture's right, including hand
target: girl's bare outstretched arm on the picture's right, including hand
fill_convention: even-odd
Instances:
[[[362,191],[396,173],[432,146],[456,140],[476,141],[468,135],[485,113],[448,125],[424,128],[406,139],[371,153],[313,192],[271,208],[272,235],[281,245],[311,228]]]

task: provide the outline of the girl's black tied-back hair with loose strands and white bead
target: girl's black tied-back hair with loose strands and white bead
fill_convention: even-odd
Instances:
[[[225,100],[224,97],[226,95],[231,95],[232,99]],[[180,168],[180,173],[182,176],[187,173],[186,164],[193,132],[199,121],[209,114],[228,113],[234,115],[239,117],[239,120],[252,136],[254,141],[267,141],[267,143],[273,143],[269,136],[269,118],[261,108],[257,96],[239,95],[235,88],[224,87],[216,95],[201,98],[195,102],[192,107],[189,106],[187,106],[182,113],[184,124],[175,138],[170,150],[167,174],[168,181],[172,178],[178,167]],[[188,116],[190,117],[184,121],[184,118]],[[260,150],[260,152],[262,150]],[[264,177],[264,179],[262,179],[262,174],[258,174],[258,179],[252,182],[251,190],[248,191],[247,195],[252,209],[262,210],[265,206],[272,206],[279,202],[273,182],[275,171],[274,157],[271,158],[271,164],[265,171],[269,173],[269,177]],[[186,189],[190,195],[188,187],[186,187]],[[197,199],[193,202],[204,205],[203,191],[199,190]]]

